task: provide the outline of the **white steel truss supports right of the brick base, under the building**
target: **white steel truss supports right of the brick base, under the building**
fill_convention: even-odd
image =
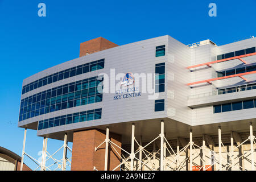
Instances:
[[[118,154],[121,158],[121,162],[118,166],[112,170],[121,168],[123,171],[180,171],[180,170],[189,170],[189,171],[237,171],[237,170],[247,170],[244,165],[240,163],[240,159],[246,159],[251,164],[250,170],[255,171],[255,162],[254,162],[254,152],[255,152],[255,137],[253,135],[253,125],[250,123],[250,135],[247,139],[241,140],[241,137],[235,131],[230,131],[230,150],[227,150],[227,146],[224,146],[224,143],[221,139],[221,126],[218,127],[218,150],[214,150],[214,142],[209,135],[203,134],[202,146],[193,142],[192,129],[189,132],[189,142],[184,138],[178,137],[177,144],[174,148],[174,145],[170,144],[170,140],[166,139],[164,134],[164,121],[161,120],[161,131],[160,134],[145,144],[142,144],[142,136],[139,139],[135,139],[135,124],[131,128],[131,151],[128,152],[123,147],[119,147],[117,144],[109,140],[109,127],[106,128],[106,139],[97,149],[105,144],[105,171],[108,169],[108,148],[109,145],[113,147],[113,150],[117,152],[117,148],[121,150],[121,154]],[[237,146],[234,146],[234,138],[236,140]],[[160,147],[156,150],[156,144],[160,140]],[[207,144],[208,146],[207,146]],[[240,156],[235,156],[234,151],[237,151],[243,148],[243,144],[250,142],[250,151],[247,153],[242,152]],[[181,144],[181,147],[180,147]],[[150,145],[153,145],[153,150],[148,151],[146,148]],[[135,146],[137,150],[134,151]],[[200,152],[199,152],[200,151]],[[186,153],[184,157],[184,153]],[[183,154],[183,157],[181,157]],[[210,154],[210,155],[207,155]],[[224,155],[225,154],[225,155]],[[250,159],[248,159],[250,156]],[[197,163],[195,163],[197,160]],[[200,160],[200,166],[198,161]],[[211,161],[210,165],[206,165],[207,162]],[[135,162],[135,164],[134,164]],[[94,166],[94,170],[97,170],[97,166]]]

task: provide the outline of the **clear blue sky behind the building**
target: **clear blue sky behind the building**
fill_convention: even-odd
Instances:
[[[46,17],[38,16],[40,2]],[[212,2],[216,17],[208,15]],[[123,45],[170,35],[184,44],[210,39],[222,45],[256,36],[255,7],[256,0],[0,0],[0,146],[22,153],[23,129],[17,127],[22,80],[79,57],[81,42],[102,36]],[[49,140],[49,151],[61,144]],[[40,150],[42,138],[28,130],[26,151],[38,158]]]

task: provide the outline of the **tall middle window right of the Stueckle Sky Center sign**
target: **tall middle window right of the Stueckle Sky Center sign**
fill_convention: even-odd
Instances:
[[[165,63],[155,64],[155,93],[164,92]]]

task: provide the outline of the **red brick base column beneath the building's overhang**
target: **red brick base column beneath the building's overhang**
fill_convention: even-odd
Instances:
[[[104,170],[105,165],[105,143],[98,147],[106,138],[106,131],[92,129],[76,131],[73,134],[72,147],[72,171],[92,171],[95,166],[97,170]],[[121,135],[109,133],[112,142],[121,147]],[[115,150],[121,154],[121,149],[115,147]],[[109,145],[108,170],[112,170],[120,163],[118,154]],[[118,168],[119,170],[119,168]]]

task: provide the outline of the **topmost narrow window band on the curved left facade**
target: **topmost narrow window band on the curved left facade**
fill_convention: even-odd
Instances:
[[[86,63],[86,64],[79,65],[77,67],[65,69],[64,71],[60,71],[60,72],[54,73],[52,75],[40,78],[39,80],[36,80],[34,82],[31,82],[30,84],[23,86],[22,94],[30,92],[31,90],[37,89],[41,86],[51,84],[52,82],[56,82],[59,80],[63,80],[65,78],[80,75],[82,73],[96,71],[97,69],[102,69],[102,68],[104,68],[104,61],[105,61],[105,59],[93,61],[90,63]]]

